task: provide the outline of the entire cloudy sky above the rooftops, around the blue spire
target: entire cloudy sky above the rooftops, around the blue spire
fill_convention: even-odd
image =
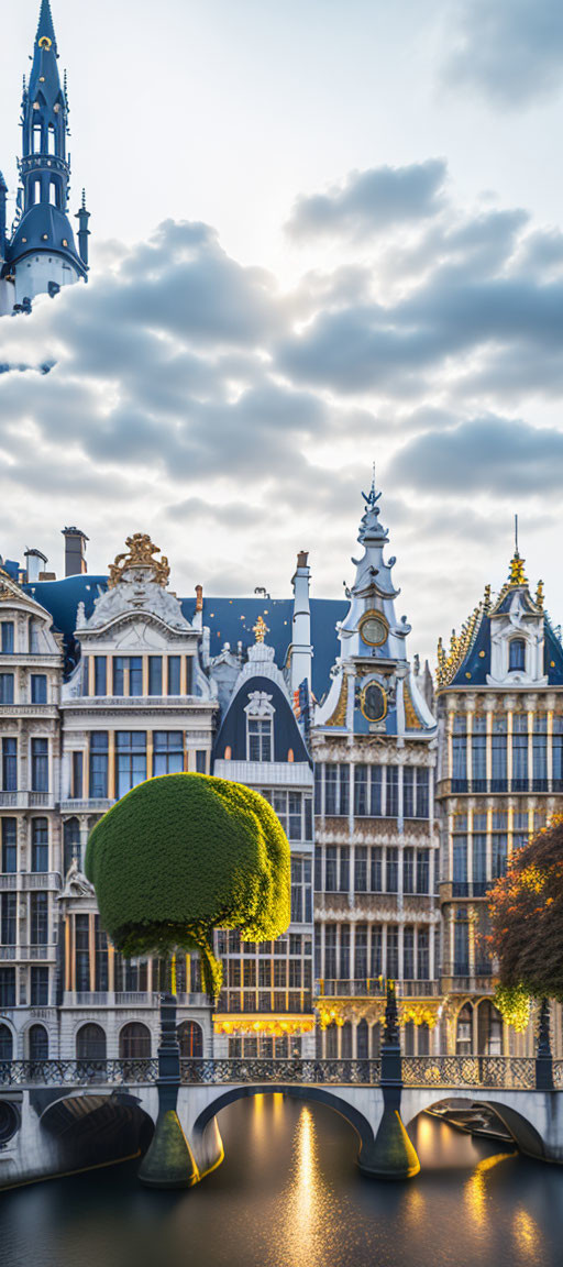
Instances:
[[[15,198],[38,0],[4,18]],[[410,651],[563,621],[560,0],[52,0],[87,286],[0,318],[0,554],[148,531],[189,594],[341,597],[372,464]],[[10,204],[10,212],[13,203]],[[46,369],[49,372],[46,372]]]

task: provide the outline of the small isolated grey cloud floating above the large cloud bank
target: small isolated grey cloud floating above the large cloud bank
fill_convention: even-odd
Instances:
[[[441,158],[354,171],[326,194],[299,198],[287,231],[295,239],[320,234],[363,238],[421,220],[440,208],[445,179]]]

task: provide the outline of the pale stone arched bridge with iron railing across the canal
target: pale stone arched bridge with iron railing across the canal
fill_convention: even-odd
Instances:
[[[563,1164],[563,1060],[549,1058],[548,1073],[534,1058],[402,1057],[393,1043],[365,1060],[180,1059],[178,1078],[162,1048],[155,1059],[0,1062],[0,1187],[145,1153],[162,1111],[178,1114],[191,1186],[222,1161],[221,1109],[271,1092],[344,1116],[374,1177],[416,1173],[404,1128],[444,1100],[492,1109],[522,1152]]]

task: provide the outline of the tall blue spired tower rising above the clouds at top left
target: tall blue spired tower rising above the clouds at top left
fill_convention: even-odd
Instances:
[[[22,158],[16,215],[6,224],[8,188],[0,174],[0,315],[29,312],[36,295],[56,295],[87,275],[89,212],[77,212],[79,250],[68,219],[68,99],[58,73],[49,0],[42,0],[33,65],[22,99]]]

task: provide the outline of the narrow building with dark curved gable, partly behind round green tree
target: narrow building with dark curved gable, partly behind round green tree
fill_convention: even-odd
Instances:
[[[302,630],[295,656],[297,674],[307,679],[311,666],[303,647],[309,642],[308,569],[306,590],[302,588],[297,584],[295,609]],[[256,641],[249,646],[245,663],[238,664],[223,712],[213,773],[246,783],[273,805],[292,848],[292,922],[284,936],[260,945],[241,943],[236,931],[216,934],[216,950],[224,964],[216,1033],[228,1035],[230,1055],[312,1055],[313,769],[290,691],[275,664],[274,647],[266,642],[269,631],[262,616],[254,632]],[[228,650],[210,663],[212,680],[226,655]],[[290,664],[292,653],[289,682]]]

